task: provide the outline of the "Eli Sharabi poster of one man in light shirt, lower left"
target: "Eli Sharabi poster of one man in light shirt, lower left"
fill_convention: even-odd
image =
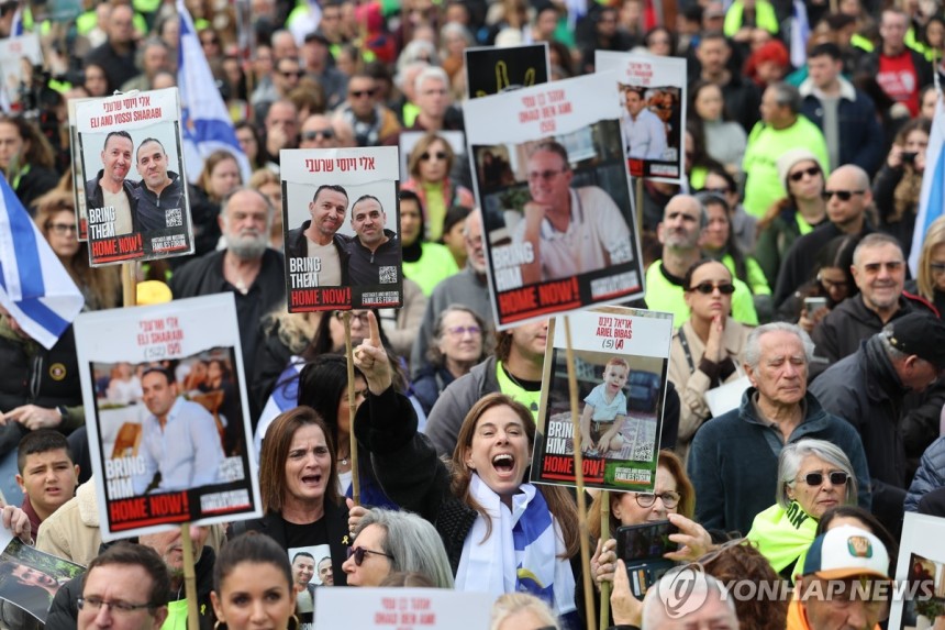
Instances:
[[[262,515],[233,294],[75,330],[103,540]]]

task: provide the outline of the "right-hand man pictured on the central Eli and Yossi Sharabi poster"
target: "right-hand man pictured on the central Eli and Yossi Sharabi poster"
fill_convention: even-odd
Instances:
[[[353,285],[396,284],[400,277],[400,239],[385,228],[387,213],[380,200],[364,195],[352,203],[348,274]]]

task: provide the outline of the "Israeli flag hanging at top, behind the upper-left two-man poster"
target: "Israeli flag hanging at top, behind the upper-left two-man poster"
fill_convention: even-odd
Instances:
[[[203,170],[203,159],[214,151],[229,151],[236,157],[243,183],[249,181],[249,161],[240,148],[233,121],[216,79],[210,71],[210,64],[197,29],[184,0],[177,0],[180,14],[180,45],[178,46],[177,87],[180,90],[181,135],[184,136],[184,161],[187,164],[187,178],[192,183]]]

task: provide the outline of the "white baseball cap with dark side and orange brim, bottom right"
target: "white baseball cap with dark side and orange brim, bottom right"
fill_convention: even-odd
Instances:
[[[889,554],[876,535],[853,526],[841,526],[814,539],[804,560],[804,575],[843,579],[872,575],[889,579]]]

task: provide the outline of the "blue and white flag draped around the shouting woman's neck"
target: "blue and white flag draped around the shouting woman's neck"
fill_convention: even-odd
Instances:
[[[575,610],[575,578],[567,559],[558,557],[565,551],[560,527],[535,486],[523,484],[519,490],[510,510],[479,475],[472,475],[469,493],[488,512],[492,534],[482,540],[487,521],[479,515],[463,543],[456,589],[496,597],[531,593],[565,615]]]

